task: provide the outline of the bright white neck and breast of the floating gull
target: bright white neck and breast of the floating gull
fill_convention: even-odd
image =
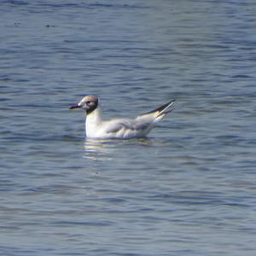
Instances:
[[[102,124],[102,111],[97,107],[94,111],[86,116],[85,130],[87,137],[95,137],[96,127]]]

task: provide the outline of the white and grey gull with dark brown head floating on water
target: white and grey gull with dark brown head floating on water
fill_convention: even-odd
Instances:
[[[167,102],[160,108],[137,116],[135,119],[102,119],[102,111],[97,96],[84,96],[83,99],[69,109],[82,108],[86,114],[85,131],[89,138],[135,138],[146,137],[158,122],[163,119],[175,100]]]

